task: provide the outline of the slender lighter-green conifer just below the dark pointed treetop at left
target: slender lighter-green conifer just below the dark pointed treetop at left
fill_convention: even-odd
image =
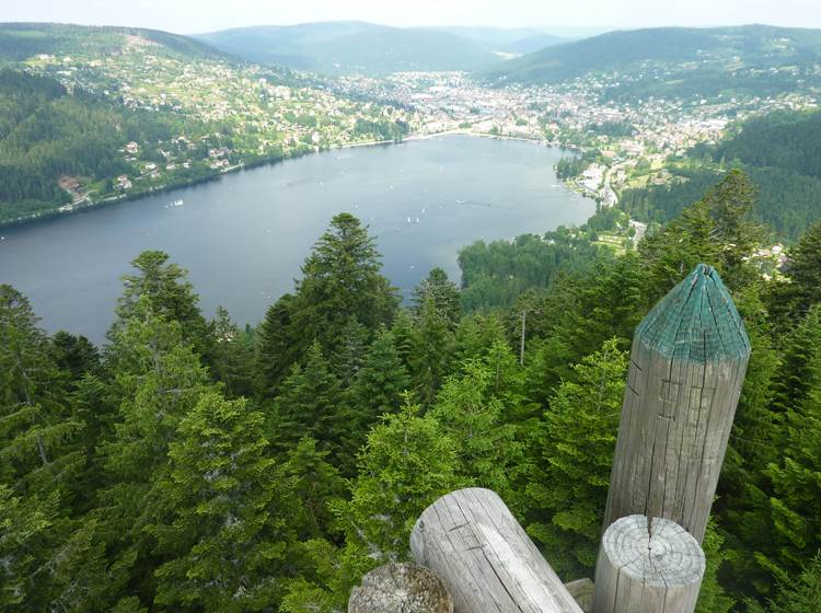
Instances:
[[[92,518],[100,521],[109,554],[112,593],[128,585],[147,604],[153,599],[157,564],[142,531],[150,510],[147,496],[167,467],[169,446],[181,420],[210,385],[180,323],[155,314],[148,298],[117,326],[106,368],[112,381],[105,393],[118,415],[99,448],[106,483]]]

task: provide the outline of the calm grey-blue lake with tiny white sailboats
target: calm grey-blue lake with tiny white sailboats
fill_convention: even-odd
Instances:
[[[331,218],[349,211],[370,227],[384,274],[406,296],[436,266],[458,280],[458,251],[477,239],[583,223],[594,204],[559,185],[560,157],[529,142],[459,136],[288,160],[0,229],[0,282],[31,299],[46,329],[101,342],[128,263],[163,250],[190,271],[206,314],[222,304],[239,323],[256,324],[292,289]],[[177,199],[184,205],[169,206]]]

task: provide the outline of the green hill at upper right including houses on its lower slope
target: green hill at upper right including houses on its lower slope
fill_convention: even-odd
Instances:
[[[483,73],[494,83],[557,83],[617,71],[605,95],[768,94],[819,80],[821,31],[744,25],[617,31],[551,46]]]

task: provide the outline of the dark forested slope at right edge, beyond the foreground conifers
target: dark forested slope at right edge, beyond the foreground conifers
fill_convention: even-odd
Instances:
[[[741,125],[715,147],[699,147],[704,163],[673,166],[668,185],[626,189],[621,208],[636,219],[666,222],[728,167],[742,167],[758,188],[755,218],[774,240],[797,240],[821,220],[821,113],[779,112]]]

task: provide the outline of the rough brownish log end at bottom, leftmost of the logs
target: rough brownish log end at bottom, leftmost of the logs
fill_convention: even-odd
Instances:
[[[433,571],[418,564],[386,564],[354,588],[348,613],[453,613],[453,600]]]

